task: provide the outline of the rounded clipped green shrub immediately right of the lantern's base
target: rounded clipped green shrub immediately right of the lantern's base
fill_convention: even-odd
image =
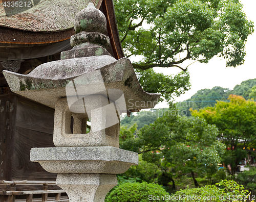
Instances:
[[[152,183],[124,183],[106,196],[105,202],[147,202],[150,197],[169,195],[160,185]],[[154,201],[168,201],[156,198]]]

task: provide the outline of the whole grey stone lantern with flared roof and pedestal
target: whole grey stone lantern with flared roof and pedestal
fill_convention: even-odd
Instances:
[[[11,90],[55,109],[56,147],[32,148],[30,160],[57,174],[70,202],[104,201],[116,174],[138,165],[138,154],[119,148],[120,115],[153,108],[160,95],[141,88],[129,59],[106,48],[106,20],[92,3],[75,18],[73,49],[27,75],[3,71]],[[90,132],[88,132],[89,121]]]

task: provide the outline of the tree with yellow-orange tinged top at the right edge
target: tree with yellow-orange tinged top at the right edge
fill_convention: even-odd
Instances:
[[[195,117],[216,124],[218,138],[226,145],[223,161],[235,173],[239,162],[246,157],[246,149],[256,142],[256,103],[242,96],[229,95],[229,103],[218,101],[215,107],[191,111]]]

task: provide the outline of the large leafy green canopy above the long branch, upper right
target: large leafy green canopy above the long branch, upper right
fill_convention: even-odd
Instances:
[[[208,63],[214,56],[226,66],[244,62],[245,42],[253,32],[239,0],[115,0],[126,57],[143,56],[138,69],[179,67],[188,59]],[[142,27],[147,23],[148,29]]]

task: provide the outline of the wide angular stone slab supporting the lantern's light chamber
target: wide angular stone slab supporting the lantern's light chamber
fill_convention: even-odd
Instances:
[[[119,174],[138,165],[138,154],[111,146],[32,148],[30,161],[54,173]]]

